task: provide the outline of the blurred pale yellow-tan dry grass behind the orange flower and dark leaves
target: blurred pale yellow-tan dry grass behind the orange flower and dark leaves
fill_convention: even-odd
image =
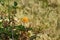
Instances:
[[[25,16],[28,17],[29,23],[27,26],[31,24],[31,27],[34,29],[34,31],[41,31],[41,33],[38,34],[40,38],[37,37],[36,40],[60,40],[60,0],[1,1],[2,5],[5,5],[2,6],[0,4],[0,14],[3,12],[7,15],[9,13],[7,10],[8,4],[13,6],[14,1],[18,3],[16,8],[16,18],[20,20]],[[12,8],[10,7],[10,10],[11,9]]]

